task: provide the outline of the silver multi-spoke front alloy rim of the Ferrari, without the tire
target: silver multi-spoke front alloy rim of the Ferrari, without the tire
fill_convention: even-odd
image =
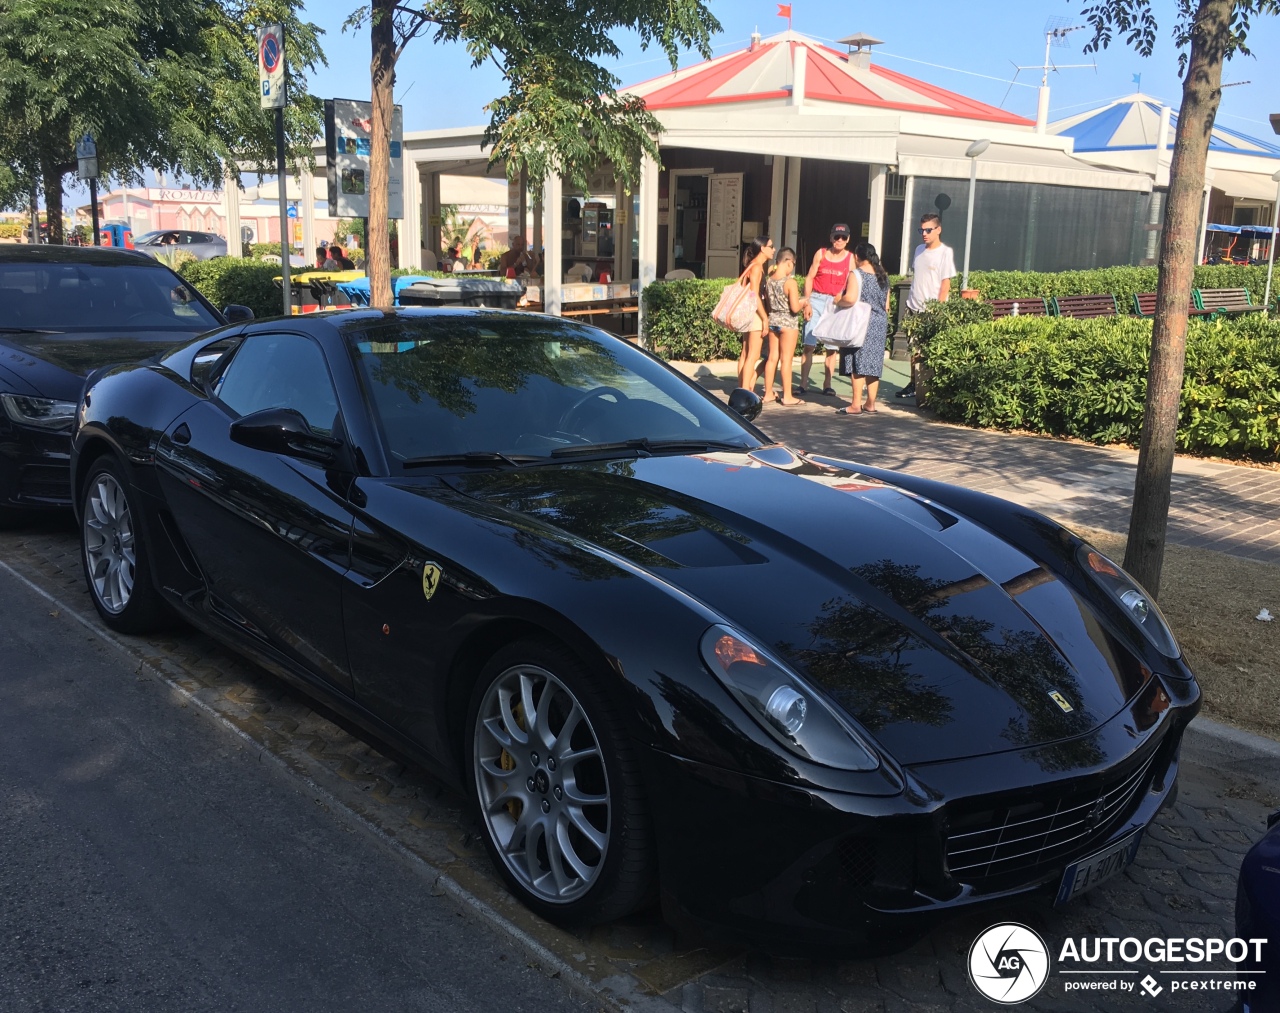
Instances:
[[[476,715],[480,811],[507,868],[539,900],[568,904],[604,868],[609,784],[577,698],[545,669],[517,665]]]

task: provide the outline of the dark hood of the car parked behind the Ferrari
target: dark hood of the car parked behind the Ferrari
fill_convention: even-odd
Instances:
[[[0,330],[0,368],[45,397],[76,401],[84,378],[100,366],[137,362],[196,337],[196,330],[67,332],[12,334]]]

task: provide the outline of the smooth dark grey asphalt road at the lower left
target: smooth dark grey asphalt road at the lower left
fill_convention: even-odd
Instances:
[[[0,1010],[581,1008],[0,572]]]

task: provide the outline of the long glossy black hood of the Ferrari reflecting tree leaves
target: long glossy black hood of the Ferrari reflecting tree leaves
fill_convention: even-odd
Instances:
[[[902,763],[1084,735],[1149,677],[1066,583],[1020,549],[783,447],[451,484],[699,598],[822,686]]]

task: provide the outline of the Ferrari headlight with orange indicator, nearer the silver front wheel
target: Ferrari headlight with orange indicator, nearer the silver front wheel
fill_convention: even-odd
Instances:
[[[840,770],[870,771],[876,753],[801,679],[727,626],[703,634],[703,660],[759,725],[796,756]]]

